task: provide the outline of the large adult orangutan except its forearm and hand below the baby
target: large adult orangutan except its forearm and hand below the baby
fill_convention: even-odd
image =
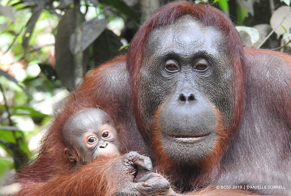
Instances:
[[[116,124],[123,151],[149,154],[177,192],[234,185],[203,194],[291,195],[290,87],[290,55],[244,48],[216,8],[168,3],[141,26],[127,56],[86,75],[19,178],[24,187],[60,170],[65,120],[97,107]]]

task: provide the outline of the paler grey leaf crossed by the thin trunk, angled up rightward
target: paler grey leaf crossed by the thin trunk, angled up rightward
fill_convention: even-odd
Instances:
[[[92,18],[89,21],[83,22],[82,31],[83,31],[83,39],[82,39],[82,50],[86,50],[106,29],[107,20],[102,19],[99,20],[97,17]],[[72,34],[70,38],[70,51],[74,53],[75,48],[75,33]]]

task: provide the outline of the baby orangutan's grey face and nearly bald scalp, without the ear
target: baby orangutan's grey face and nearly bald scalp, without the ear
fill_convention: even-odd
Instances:
[[[103,155],[119,155],[114,123],[103,110],[87,108],[72,114],[63,127],[62,135],[65,144],[77,147],[86,160]]]

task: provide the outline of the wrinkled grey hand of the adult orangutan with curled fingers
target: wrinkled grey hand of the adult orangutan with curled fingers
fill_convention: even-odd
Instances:
[[[146,171],[152,171],[150,158],[137,152],[129,152],[113,164],[118,168],[118,196],[163,195],[170,189],[170,183],[160,174],[146,174],[138,182],[133,182],[138,172],[138,166]]]

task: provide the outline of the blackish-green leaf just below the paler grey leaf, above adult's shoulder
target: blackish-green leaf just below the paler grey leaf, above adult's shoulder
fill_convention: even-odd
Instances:
[[[121,46],[120,37],[106,29],[93,43],[93,58],[96,65],[124,53],[124,50],[119,51]]]

